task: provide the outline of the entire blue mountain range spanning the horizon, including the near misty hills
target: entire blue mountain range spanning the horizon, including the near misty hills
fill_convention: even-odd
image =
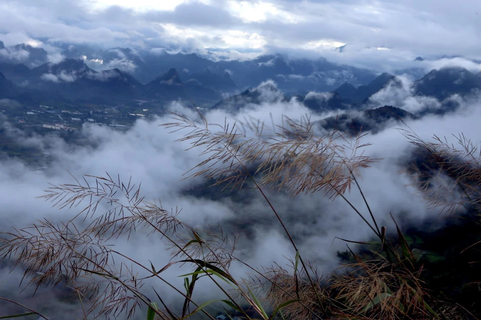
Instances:
[[[319,122],[325,128],[362,126],[375,131],[379,123],[447,112],[456,105],[446,98],[481,90],[481,72],[462,67],[431,70],[413,82],[412,91],[438,99],[442,107],[411,114],[396,106],[372,108],[368,103],[388,85],[401,87],[396,75],[376,75],[324,58],[289,59],[271,54],[250,60],[213,61],[195,53],[96,50],[85,45],[70,45],[62,54],[64,59],[48,62],[43,48],[28,44],[6,47],[0,41],[0,99],[27,105],[48,99],[111,106],[134,100],[157,101],[162,106],[183,99],[228,112],[296,99],[317,113],[341,112]]]

